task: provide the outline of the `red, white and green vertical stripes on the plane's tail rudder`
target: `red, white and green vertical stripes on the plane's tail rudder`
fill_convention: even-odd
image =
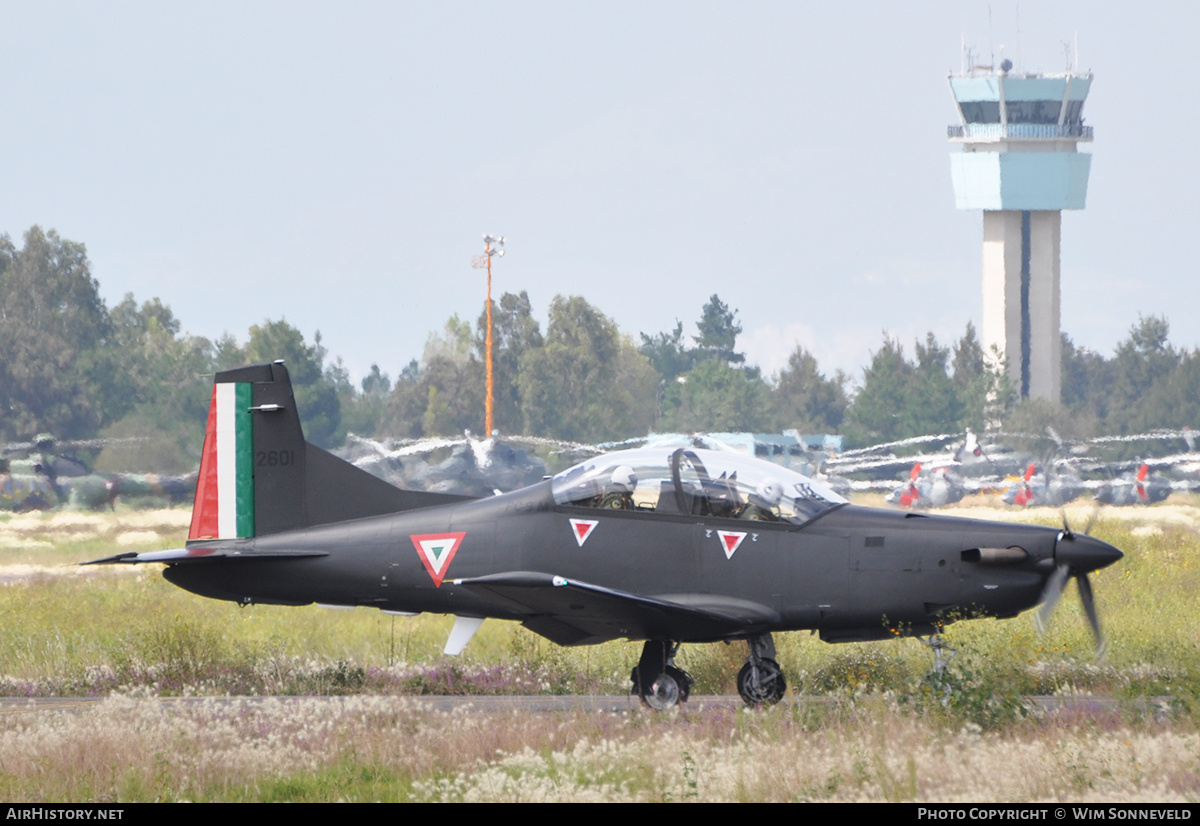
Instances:
[[[254,535],[254,439],[250,382],[212,385],[188,539]]]

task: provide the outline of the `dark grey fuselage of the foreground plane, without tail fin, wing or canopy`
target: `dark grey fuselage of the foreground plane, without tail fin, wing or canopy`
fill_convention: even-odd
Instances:
[[[582,545],[572,517],[598,522]],[[746,535],[727,556],[719,531]],[[412,537],[449,532],[464,535],[436,586]],[[214,545],[228,549],[229,541]],[[626,633],[613,627],[611,636],[600,635],[686,642],[796,629],[817,629],[830,641],[882,639],[896,626],[928,633],[955,612],[1008,617],[1040,601],[1046,577],[1062,561],[1056,546],[1064,549],[1060,557],[1073,555],[1076,562],[1094,556],[1096,567],[1116,558],[1103,543],[1064,538],[1055,528],[856,505],[804,526],[556,507],[550,483],[238,545],[239,557],[174,564],[166,576],[198,594],[242,604],[368,605],[516,621],[529,620],[529,611],[455,580],[540,571],[684,605],[752,604],[744,609],[744,622],[724,630],[635,627],[648,624],[641,620],[631,621]],[[979,553],[1010,547],[1022,549],[1025,557],[997,562]],[[314,556],[275,557],[296,552]],[[256,556],[265,558],[256,562]],[[595,638],[574,641],[601,641]]]

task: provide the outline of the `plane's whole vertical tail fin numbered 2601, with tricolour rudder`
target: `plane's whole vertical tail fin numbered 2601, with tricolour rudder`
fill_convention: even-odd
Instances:
[[[305,442],[276,361],[216,375],[187,538],[262,537],[466,498],[394,487]]]

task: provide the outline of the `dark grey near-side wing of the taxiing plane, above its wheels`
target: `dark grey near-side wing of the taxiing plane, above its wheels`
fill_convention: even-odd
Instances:
[[[558,645],[619,638],[710,641],[755,633],[780,621],[772,609],[749,600],[710,594],[647,597],[538,571],[454,583],[528,615],[522,624]]]

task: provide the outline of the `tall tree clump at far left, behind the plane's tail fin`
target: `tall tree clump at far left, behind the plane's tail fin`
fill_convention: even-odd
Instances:
[[[112,461],[134,467],[107,469],[186,472],[199,459],[212,373],[276,358],[296,379],[310,438],[344,437],[342,397],[358,394],[346,370],[328,364],[319,334],[310,345],[287,322],[269,321],[239,345],[180,329],[157,298],[139,305],[126,295],[108,307],[82,244],[34,227],[18,250],[0,235],[0,438],[113,437],[124,447]]]

